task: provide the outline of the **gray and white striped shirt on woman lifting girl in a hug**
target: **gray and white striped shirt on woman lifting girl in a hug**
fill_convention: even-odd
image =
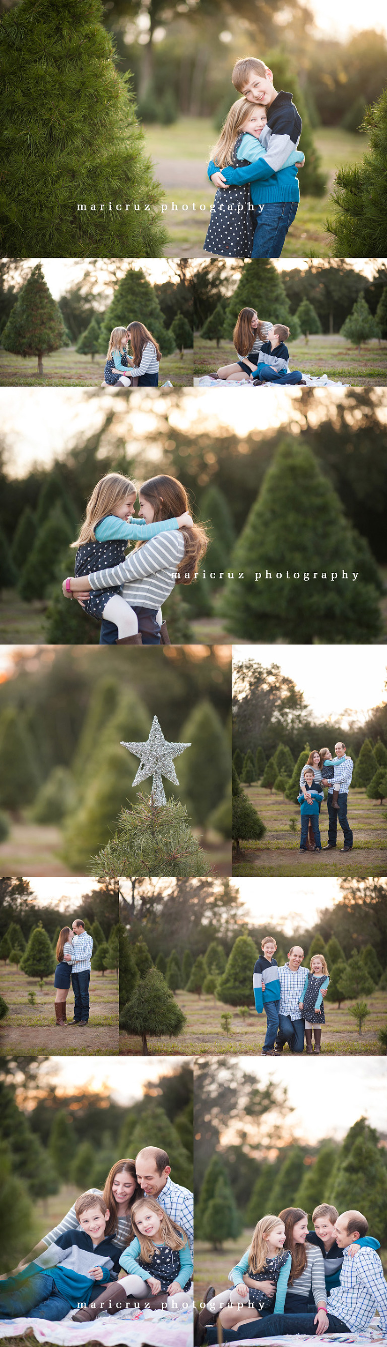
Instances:
[[[159,609],[172,593],[176,571],[180,571],[185,552],[181,531],[159,533],[144,547],[129,552],[120,566],[89,575],[93,590],[121,585],[122,598],[134,607]]]

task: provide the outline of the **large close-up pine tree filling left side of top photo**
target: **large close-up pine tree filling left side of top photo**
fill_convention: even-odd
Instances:
[[[7,256],[163,252],[160,189],[102,19],[101,0],[22,0],[3,13]]]

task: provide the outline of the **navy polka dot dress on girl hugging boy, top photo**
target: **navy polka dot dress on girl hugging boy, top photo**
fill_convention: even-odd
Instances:
[[[243,133],[235,140],[234,168],[242,168],[249,163],[249,159],[236,159],[242,140]],[[203,252],[216,253],[218,257],[251,257],[254,230],[255,213],[251,210],[249,182],[241,187],[218,187]]]

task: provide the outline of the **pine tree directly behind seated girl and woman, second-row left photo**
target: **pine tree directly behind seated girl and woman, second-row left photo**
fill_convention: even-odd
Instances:
[[[118,282],[109,308],[106,308],[106,314],[103,315],[99,333],[99,350],[106,353],[113,327],[128,327],[128,323],[134,322],[144,323],[148,331],[156,337],[163,356],[168,356],[171,348],[173,350],[175,343],[164,327],[164,314],[160,308],[155,286],[150,286],[150,282],[146,280],[142,268],[137,269],[132,263],[125,276]]]

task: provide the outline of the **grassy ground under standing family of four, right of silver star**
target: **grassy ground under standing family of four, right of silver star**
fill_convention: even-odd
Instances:
[[[387,874],[386,843],[387,843],[387,814],[386,807],[376,800],[368,800],[366,791],[351,789],[348,800],[348,819],[353,830],[353,850],[343,853],[343,832],[337,826],[336,851],[300,851],[300,810],[285,800],[284,795],[270,792],[255,784],[245,787],[251,804],[258,811],[266,824],[267,832],[262,842],[242,842],[243,859],[232,858],[232,874],[288,874],[288,876],[357,876],[364,880],[367,876]],[[289,828],[290,819],[296,819],[297,831]],[[328,842],[328,808],[321,804],[320,814],[321,846]]]

